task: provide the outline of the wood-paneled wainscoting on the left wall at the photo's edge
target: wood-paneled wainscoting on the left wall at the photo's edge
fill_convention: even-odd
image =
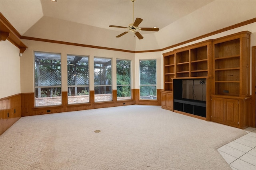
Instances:
[[[21,117],[21,94],[0,99],[0,135]]]

